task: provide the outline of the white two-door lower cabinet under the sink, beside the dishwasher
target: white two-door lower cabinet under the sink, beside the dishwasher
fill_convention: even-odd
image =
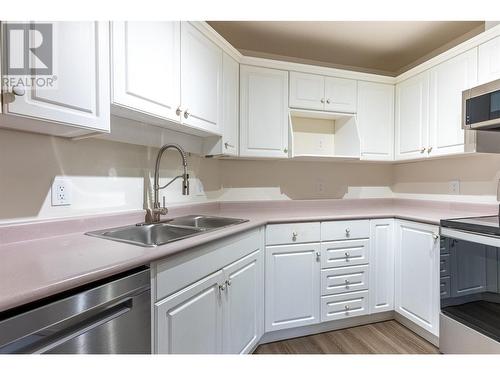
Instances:
[[[180,254],[153,265],[156,353],[240,354],[254,349],[264,334],[262,232],[193,249],[198,256]],[[228,264],[231,258],[237,259]],[[195,281],[203,270],[214,272]],[[194,280],[186,285],[186,278]],[[180,289],[179,283],[184,284]]]

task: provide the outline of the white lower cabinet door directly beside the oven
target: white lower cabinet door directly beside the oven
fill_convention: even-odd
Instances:
[[[439,334],[438,227],[401,221],[396,244],[396,312]]]

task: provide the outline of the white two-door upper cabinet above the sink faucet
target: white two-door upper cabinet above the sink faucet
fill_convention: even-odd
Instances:
[[[113,22],[113,113],[220,134],[222,49],[188,22]]]

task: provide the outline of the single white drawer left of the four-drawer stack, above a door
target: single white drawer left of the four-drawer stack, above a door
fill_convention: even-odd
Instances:
[[[266,227],[266,245],[319,242],[320,223],[272,224]]]

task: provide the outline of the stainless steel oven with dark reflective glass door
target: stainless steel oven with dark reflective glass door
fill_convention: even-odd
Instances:
[[[443,353],[500,353],[499,216],[441,221]]]

